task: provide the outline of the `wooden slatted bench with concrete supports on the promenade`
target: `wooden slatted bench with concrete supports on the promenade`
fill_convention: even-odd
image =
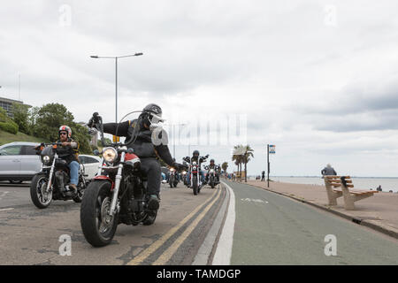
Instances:
[[[344,198],[344,208],[355,210],[355,202],[378,193],[378,191],[353,190],[354,185],[349,176],[324,176],[329,205],[337,205],[337,198]]]

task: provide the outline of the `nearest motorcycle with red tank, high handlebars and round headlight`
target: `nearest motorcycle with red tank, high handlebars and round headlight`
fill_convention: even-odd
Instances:
[[[127,149],[129,141],[105,144],[103,120],[97,112],[93,116],[103,143],[102,152],[96,150],[102,155],[102,165],[81,202],[80,225],[92,246],[103,247],[111,242],[119,224],[152,225],[157,210],[148,208],[148,179],[142,175],[141,160],[134,149]]]

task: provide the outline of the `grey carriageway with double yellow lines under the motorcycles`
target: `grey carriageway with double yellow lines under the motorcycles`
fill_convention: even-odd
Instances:
[[[39,210],[22,185],[0,184],[0,264],[192,264],[226,195],[222,187],[195,196],[181,184],[162,185],[153,226],[119,225],[109,246],[93,248],[81,232],[80,203]],[[65,236],[71,256],[60,255]]]

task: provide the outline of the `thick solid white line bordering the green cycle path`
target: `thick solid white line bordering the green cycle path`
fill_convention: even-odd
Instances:
[[[235,195],[233,189],[222,182],[229,191],[229,205],[226,214],[226,222],[218,240],[212,265],[230,265],[233,248],[233,229],[235,226]]]

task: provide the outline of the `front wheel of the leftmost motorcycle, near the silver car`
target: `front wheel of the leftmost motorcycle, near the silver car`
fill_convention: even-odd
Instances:
[[[46,192],[48,181],[45,174],[35,174],[30,183],[30,198],[39,209],[48,208],[52,201],[52,190]]]

